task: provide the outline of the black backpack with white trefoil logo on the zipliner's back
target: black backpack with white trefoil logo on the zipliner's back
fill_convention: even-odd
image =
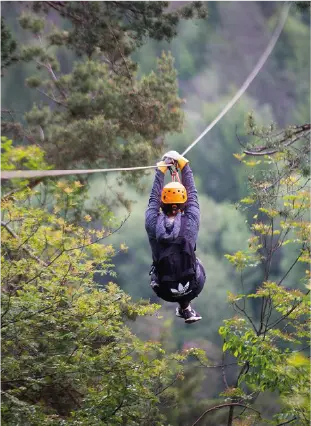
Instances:
[[[181,217],[178,237],[170,242],[157,242],[157,258],[153,265],[161,292],[172,299],[190,294],[196,287],[196,256],[184,237],[186,217]]]

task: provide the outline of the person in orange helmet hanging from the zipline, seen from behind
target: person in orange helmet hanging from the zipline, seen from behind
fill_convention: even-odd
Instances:
[[[161,299],[177,302],[176,315],[189,324],[202,319],[190,302],[201,293],[206,280],[195,255],[200,225],[198,194],[189,161],[178,152],[167,152],[157,166],[145,215],[153,258],[150,285]],[[168,169],[173,181],[164,186]]]

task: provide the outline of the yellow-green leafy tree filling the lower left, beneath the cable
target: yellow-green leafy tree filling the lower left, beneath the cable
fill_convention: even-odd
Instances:
[[[46,167],[36,146],[1,138],[0,150],[1,169]],[[160,426],[160,398],[182,378],[187,355],[166,356],[126,324],[158,306],[134,303],[112,281],[94,283],[98,270],[115,275],[115,252],[103,242],[107,227],[92,227],[89,215],[75,222],[82,187],[24,181],[8,194],[1,186],[0,423]]]

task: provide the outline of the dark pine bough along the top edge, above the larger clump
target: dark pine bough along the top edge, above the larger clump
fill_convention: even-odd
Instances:
[[[177,35],[181,19],[204,18],[202,0],[168,11],[168,0],[34,0],[35,11],[51,9],[70,20],[69,42],[82,54],[91,56],[97,48],[103,52],[116,50],[128,56],[146,37],[171,40]]]

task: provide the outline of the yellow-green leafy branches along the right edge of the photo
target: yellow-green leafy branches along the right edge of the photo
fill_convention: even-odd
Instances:
[[[281,407],[273,416],[273,425],[308,425],[311,421],[311,173],[305,170],[309,133],[308,124],[281,130],[261,128],[251,121],[254,141],[242,158],[255,157],[258,173],[241,203],[256,210],[249,225],[252,237],[246,250],[226,255],[241,275],[241,283],[246,270],[262,268],[264,274],[255,291],[245,287],[241,293],[229,294],[236,315],[224,321],[219,333],[223,351],[237,359],[240,373],[234,389],[228,387],[224,396],[249,405],[254,394],[277,392]],[[243,161],[254,167],[252,159]],[[280,252],[286,261],[276,274],[272,265]],[[257,310],[249,300],[257,301]]]

